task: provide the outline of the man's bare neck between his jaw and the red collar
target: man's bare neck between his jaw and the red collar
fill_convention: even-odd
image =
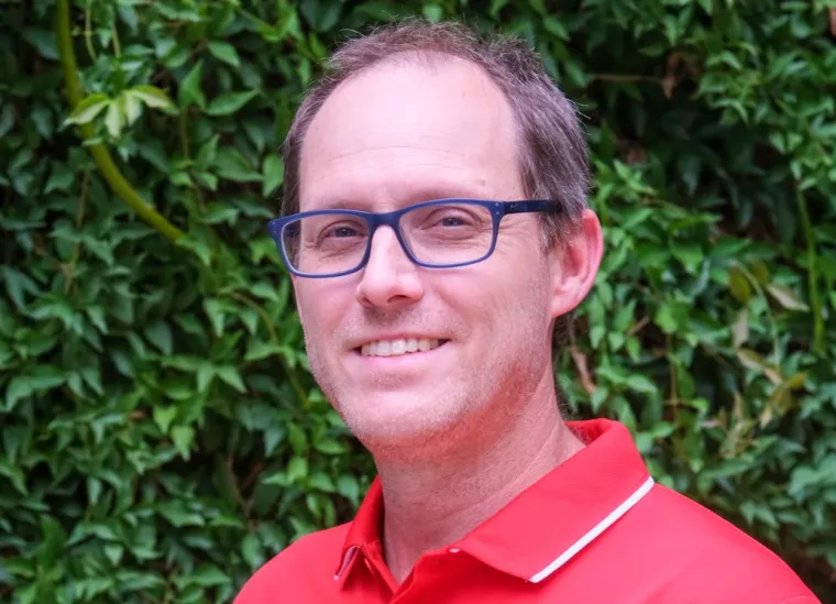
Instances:
[[[397,583],[422,553],[461,539],[583,448],[560,417],[550,380],[521,413],[497,424],[480,424],[477,447],[457,442],[439,455],[377,460],[383,548]]]

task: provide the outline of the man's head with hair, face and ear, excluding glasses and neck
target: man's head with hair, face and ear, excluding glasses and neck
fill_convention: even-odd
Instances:
[[[294,278],[315,377],[373,452],[492,435],[536,394],[553,399],[552,329],[597,271],[574,110],[525,44],[451,24],[378,30],[332,63],[285,143],[284,215],[441,198],[561,208],[505,217],[493,254],[470,266],[418,266],[384,227],[363,270]],[[394,343],[373,353],[441,345],[363,354],[378,341]]]

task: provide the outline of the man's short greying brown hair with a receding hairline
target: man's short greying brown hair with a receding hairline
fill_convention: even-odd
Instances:
[[[299,211],[299,164],[305,134],[333,90],[353,75],[393,57],[453,56],[484,69],[505,94],[517,122],[519,168],[530,199],[553,199],[558,215],[543,218],[543,242],[560,241],[580,223],[590,186],[587,149],[574,106],[554,85],[535,51],[513,36],[482,35],[457,22],[408,19],[344,42],[324,76],[301,101],[283,145],[282,213]],[[571,321],[561,317],[556,338]],[[557,342],[556,342],[557,343]]]

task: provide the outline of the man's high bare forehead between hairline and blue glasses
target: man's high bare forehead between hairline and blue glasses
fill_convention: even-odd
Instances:
[[[518,198],[516,150],[510,106],[482,69],[455,58],[386,63],[341,84],[314,118],[300,206]]]

